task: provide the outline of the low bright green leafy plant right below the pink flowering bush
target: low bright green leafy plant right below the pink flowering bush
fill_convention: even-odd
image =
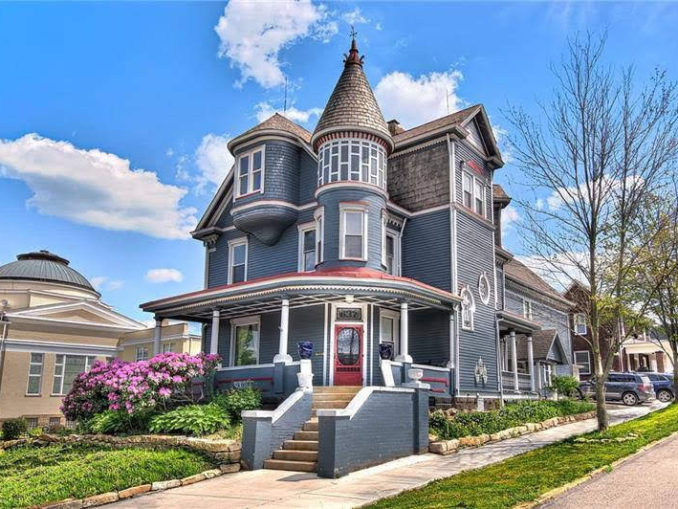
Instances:
[[[225,429],[228,424],[226,411],[221,406],[210,403],[209,405],[183,406],[156,415],[151,419],[149,429],[151,433],[200,436]]]

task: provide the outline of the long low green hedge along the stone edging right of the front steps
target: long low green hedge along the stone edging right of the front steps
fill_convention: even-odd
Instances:
[[[496,433],[528,422],[542,422],[553,417],[589,412],[595,407],[587,401],[521,401],[509,403],[500,410],[466,412],[448,417],[442,411],[431,414],[429,428],[441,440],[450,440],[483,433]]]

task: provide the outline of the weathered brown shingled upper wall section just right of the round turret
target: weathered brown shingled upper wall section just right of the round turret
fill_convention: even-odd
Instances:
[[[388,160],[388,192],[413,212],[450,202],[447,140]]]

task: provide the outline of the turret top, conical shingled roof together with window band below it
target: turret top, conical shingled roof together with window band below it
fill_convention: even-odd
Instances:
[[[318,154],[318,187],[359,181],[386,190],[386,159],[393,140],[363,71],[355,42],[311,137]]]

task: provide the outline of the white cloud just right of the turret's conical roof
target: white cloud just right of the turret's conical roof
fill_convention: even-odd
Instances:
[[[394,71],[384,76],[374,94],[386,119],[397,118],[409,129],[460,109],[463,101],[457,95],[461,71],[432,72],[415,78]],[[448,111],[449,101],[449,111]]]

